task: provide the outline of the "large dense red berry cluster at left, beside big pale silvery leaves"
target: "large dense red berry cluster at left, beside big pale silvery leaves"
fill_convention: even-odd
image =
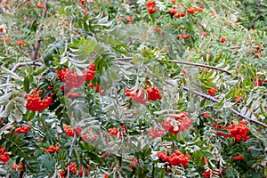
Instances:
[[[52,97],[46,96],[46,98],[42,100],[39,96],[40,93],[42,93],[42,90],[39,90],[38,92],[36,90],[33,90],[32,94],[26,95],[26,108],[28,110],[40,112],[43,109],[47,109],[51,105],[53,101]]]

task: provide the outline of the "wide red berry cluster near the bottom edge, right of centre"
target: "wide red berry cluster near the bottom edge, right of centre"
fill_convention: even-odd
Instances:
[[[190,155],[184,155],[179,150],[174,150],[170,156],[167,153],[158,152],[158,158],[168,162],[171,166],[187,166],[190,162]]]

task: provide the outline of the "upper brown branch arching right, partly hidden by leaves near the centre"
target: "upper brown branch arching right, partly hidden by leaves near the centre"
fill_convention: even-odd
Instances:
[[[130,61],[130,60],[133,60],[133,57],[117,58],[117,61]],[[184,65],[189,65],[189,66],[195,66],[195,67],[204,67],[204,68],[208,68],[208,69],[220,70],[220,71],[222,71],[228,75],[232,75],[231,72],[226,70],[226,69],[217,68],[217,67],[209,66],[206,64],[198,64],[198,63],[194,63],[194,62],[190,62],[190,61],[174,61],[174,60],[169,60],[169,62],[184,64]]]

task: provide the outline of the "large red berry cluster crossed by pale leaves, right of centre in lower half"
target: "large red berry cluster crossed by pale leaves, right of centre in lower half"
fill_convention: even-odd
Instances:
[[[177,125],[178,129],[174,130],[174,125],[172,124],[171,120],[167,120],[162,123],[162,126],[165,128],[165,130],[171,134],[179,134],[185,131],[194,121],[192,118],[189,118],[188,112],[178,112],[177,114],[181,115],[180,117],[174,117],[174,120],[179,122],[179,125]]]

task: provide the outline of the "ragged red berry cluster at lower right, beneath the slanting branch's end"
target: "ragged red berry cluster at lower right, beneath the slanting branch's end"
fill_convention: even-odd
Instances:
[[[245,142],[249,139],[249,136],[247,136],[247,132],[249,131],[249,128],[247,127],[245,121],[240,121],[239,125],[234,125],[234,124],[232,124],[231,126],[214,125],[214,127],[228,130],[230,134],[223,134],[219,131],[216,131],[216,134],[220,134],[224,137],[235,138],[236,142],[239,142],[239,141]]]

